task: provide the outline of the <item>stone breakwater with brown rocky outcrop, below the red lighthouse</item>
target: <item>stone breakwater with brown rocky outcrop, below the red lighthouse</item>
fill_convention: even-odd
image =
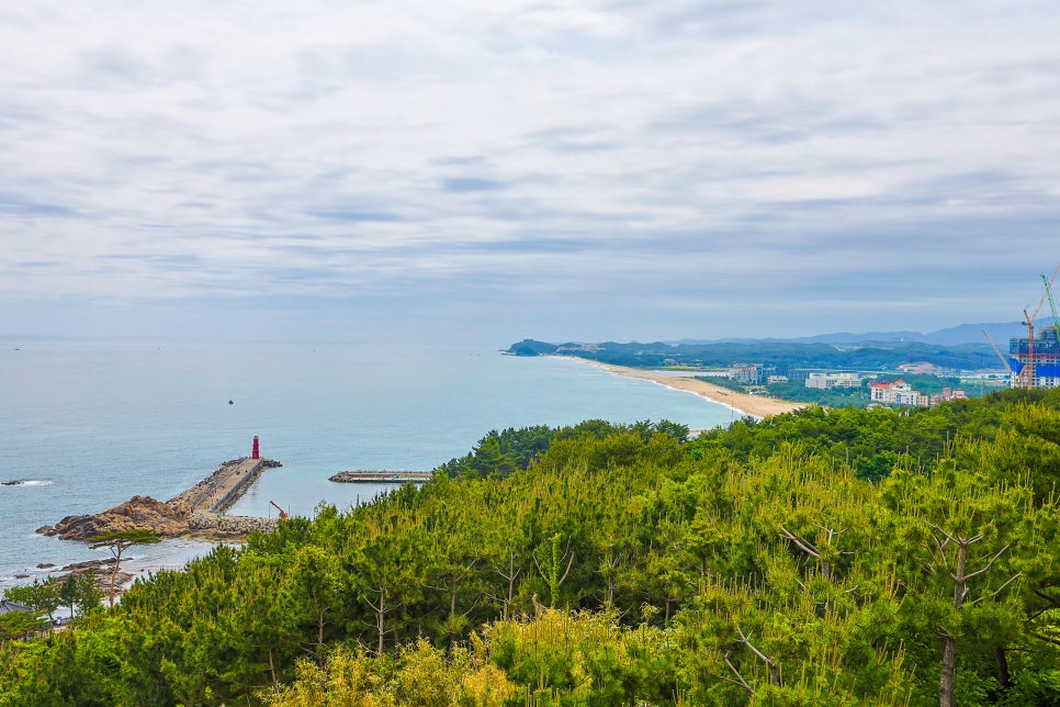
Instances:
[[[37,532],[91,541],[108,532],[149,528],[160,538],[241,540],[256,530],[271,530],[275,519],[226,516],[224,512],[243,497],[261,472],[280,465],[271,459],[234,459],[167,502],[136,495],[102,513],[67,516]]]

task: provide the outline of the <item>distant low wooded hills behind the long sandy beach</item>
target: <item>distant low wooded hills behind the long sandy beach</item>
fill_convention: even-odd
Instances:
[[[602,363],[633,367],[665,364],[724,368],[734,362],[762,363],[787,371],[792,368],[894,370],[904,363],[932,363],[946,370],[1001,369],[1001,361],[983,344],[943,346],[918,341],[861,341],[820,344],[751,341],[719,344],[549,344],[523,339],[512,344],[515,356],[573,356]]]

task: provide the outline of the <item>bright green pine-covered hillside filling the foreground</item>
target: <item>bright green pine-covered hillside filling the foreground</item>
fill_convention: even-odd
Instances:
[[[686,433],[489,433],[7,636],[0,705],[1060,704],[1060,391]]]

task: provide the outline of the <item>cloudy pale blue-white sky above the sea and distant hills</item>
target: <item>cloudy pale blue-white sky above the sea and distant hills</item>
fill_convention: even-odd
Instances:
[[[7,2],[0,336],[1016,321],[1057,37],[1022,0]]]

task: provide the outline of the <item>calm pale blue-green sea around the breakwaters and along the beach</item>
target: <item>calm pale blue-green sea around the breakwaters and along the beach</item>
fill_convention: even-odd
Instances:
[[[275,503],[312,516],[392,489],[328,481],[338,471],[429,471],[506,427],[664,418],[703,429],[733,412],[576,359],[489,348],[0,339],[0,590],[109,557],[37,528],[134,494],[171,498],[249,456],[255,436],[283,465],[229,513],[275,517]],[[142,546],[123,569],[179,569],[212,547]]]

